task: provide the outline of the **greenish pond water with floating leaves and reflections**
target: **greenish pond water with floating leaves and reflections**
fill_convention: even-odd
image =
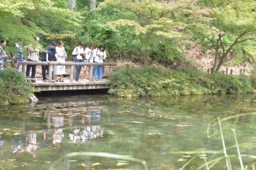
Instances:
[[[197,169],[223,157],[208,151],[223,146],[216,118],[222,121],[226,147],[236,129],[243,155],[256,155],[255,95],[122,99],[108,95],[40,97],[40,102],[0,108],[0,169],[49,169],[72,152],[104,152],[139,158],[148,169]],[[248,115],[244,115],[248,113]],[[207,137],[209,133],[214,134]],[[185,151],[185,152],[181,152]],[[190,153],[188,151],[199,151]],[[240,167],[236,148],[227,150],[233,169]],[[233,155],[233,156],[232,156]],[[212,161],[211,163],[213,163]],[[256,162],[243,157],[252,169]],[[209,164],[210,166],[211,164]],[[227,169],[225,159],[212,169]],[[54,169],[143,169],[121,158],[77,156]],[[203,168],[205,169],[205,167]]]

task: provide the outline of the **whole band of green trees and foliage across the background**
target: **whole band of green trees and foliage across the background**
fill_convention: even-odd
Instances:
[[[96,1],[96,0],[95,0]],[[70,51],[77,42],[105,43],[108,59],[132,59],[148,64],[186,61],[185,50],[199,44],[215,54],[218,71],[225,62],[254,63],[256,2],[254,0],[156,1],[76,0],[76,11],[65,0],[13,0],[0,4],[0,38],[8,52],[19,38],[42,45],[64,40]]]

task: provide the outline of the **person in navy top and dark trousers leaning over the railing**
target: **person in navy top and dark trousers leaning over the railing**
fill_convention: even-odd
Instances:
[[[55,54],[56,54],[56,47],[57,47],[57,43],[54,41],[52,42],[51,45],[48,45],[47,47],[45,47],[45,51],[42,54],[42,58],[41,61],[46,61],[47,63],[50,63],[52,61],[52,58],[54,58]],[[49,66],[48,65],[42,65],[42,75],[43,75],[43,81],[46,81],[46,72],[49,73]]]

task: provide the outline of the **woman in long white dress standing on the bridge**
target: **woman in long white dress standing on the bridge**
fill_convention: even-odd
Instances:
[[[65,59],[67,58],[67,53],[65,52],[63,45],[64,45],[63,41],[60,41],[58,42],[58,47],[56,47],[55,57],[57,59],[57,62],[60,62],[60,63],[65,63]],[[64,82],[63,74],[65,73],[66,73],[66,66],[56,66],[55,74],[57,76],[60,75],[60,82]],[[58,77],[57,77],[57,81],[58,81]]]

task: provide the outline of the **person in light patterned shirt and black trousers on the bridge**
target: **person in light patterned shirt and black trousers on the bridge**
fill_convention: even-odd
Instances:
[[[27,61],[38,61],[39,60],[39,52],[40,52],[40,45],[39,41],[40,38],[39,36],[35,36],[35,44],[30,44],[26,45],[24,49],[28,50],[28,59]],[[28,78],[29,81],[29,73],[32,68],[32,74],[31,74],[31,82],[36,82],[35,77],[36,77],[36,65],[27,65],[27,70],[26,70],[26,77]]]

